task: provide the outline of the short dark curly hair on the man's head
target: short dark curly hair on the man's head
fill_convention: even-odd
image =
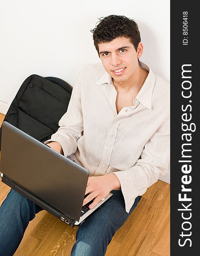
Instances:
[[[97,23],[99,23],[97,25]],[[134,20],[120,15],[109,15],[99,18],[96,28],[91,29],[93,32],[94,46],[99,54],[98,44],[108,43],[118,37],[130,38],[137,51],[139,42],[141,41],[138,25]]]

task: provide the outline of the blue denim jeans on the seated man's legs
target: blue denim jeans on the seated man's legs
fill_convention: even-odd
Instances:
[[[76,231],[71,256],[103,256],[116,230],[127,220],[142,196],[138,196],[125,211],[121,190],[91,215]],[[0,256],[11,256],[17,250],[26,227],[42,208],[11,189],[0,207]]]

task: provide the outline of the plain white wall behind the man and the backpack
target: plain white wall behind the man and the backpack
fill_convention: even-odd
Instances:
[[[0,113],[31,74],[72,86],[79,70],[100,62],[90,29],[99,17],[125,15],[140,29],[141,61],[170,79],[170,1],[6,0],[0,2]],[[162,180],[169,182],[169,173]]]

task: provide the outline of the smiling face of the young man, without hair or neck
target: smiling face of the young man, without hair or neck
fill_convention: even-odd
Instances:
[[[139,43],[139,46],[142,45]],[[104,69],[117,82],[131,81],[135,71],[138,69],[138,58],[142,50],[136,52],[129,38],[119,37],[109,43],[101,43],[99,55]]]

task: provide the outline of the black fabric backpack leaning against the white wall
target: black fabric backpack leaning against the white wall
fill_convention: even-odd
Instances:
[[[72,87],[62,79],[31,75],[18,90],[4,121],[41,142],[49,140],[67,111],[71,93]]]

